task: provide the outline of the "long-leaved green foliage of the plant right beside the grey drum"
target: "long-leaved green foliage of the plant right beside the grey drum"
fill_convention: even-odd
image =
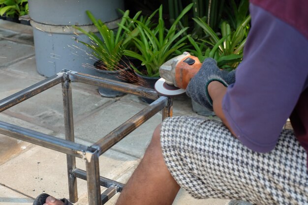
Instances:
[[[124,49],[127,48],[129,45],[129,41],[125,41],[126,34],[123,32],[121,25],[132,25],[132,23],[127,24],[127,18],[129,16],[129,11],[126,10],[123,12],[123,17],[121,22],[118,24],[119,29],[116,33],[109,29],[101,20],[96,20],[90,11],[86,11],[88,17],[94,24],[94,26],[98,29],[100,34],[97,36],[92,31],[87,32],[80,27],[73,26],[75,29],[80,30],[82,33],[86,34],[92,41],[92,44],[85,43],[83,41],[79,41],[86,45],[88,48],[92,50],[92,54],[98,60],[101,60],[102,64],[104,65],[104,69],[106,70],[116,70],[118,68],[119,62],[123,57]]]

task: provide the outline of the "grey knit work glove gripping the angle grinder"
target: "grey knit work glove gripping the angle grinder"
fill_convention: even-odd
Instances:
[[[208,58],[202,63],[198,73],[190,80],[186,94],[195,102],[213,111],[213,101],[208,91],[212,81],[218,81],[225,87],[235,82],[235,71],[221,71],[215,59]]]

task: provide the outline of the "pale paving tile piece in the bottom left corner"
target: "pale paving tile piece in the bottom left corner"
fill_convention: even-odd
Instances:
[[[0,185],[0,205],[32,205],[33,199]]]

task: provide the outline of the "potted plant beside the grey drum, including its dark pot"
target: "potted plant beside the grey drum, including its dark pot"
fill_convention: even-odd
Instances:
[[[86,13],[94,26],[97,28],[99,35],[96,35],[92,31],[86,31],[78,26],[73,26],[73,28],[78,29],[92,40],[91,43],[86,43],[83,41],[78,42],[86,45],[89,49],[92,50],[91,56],[96,60],[94,63],[96,76],[112,80],[119,80],[119,75],[122,72],[128,72],[127,70],[129,62],[123,58],[123,53],[124,49],[130,45],[130,42],[124,42],[126,39],[126,34],[123,32],[121,26],[119,26],[119,29],[114,32],[112,29],[109,29],[108,26],[101,20],[95,19],[91,11],[87,10]],[[125,24],[128,15],[128,10],[123,12],[123,17],[119,25]],[[101,87],[98,88],[98,91],[104,97],[115,97],[124,94],[119,91]]]

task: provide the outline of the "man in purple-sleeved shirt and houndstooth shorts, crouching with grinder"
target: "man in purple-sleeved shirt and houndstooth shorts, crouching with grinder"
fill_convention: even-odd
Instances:
[[[222,123],[164,120],[117,205],[171,205],[180,187],[203,199],[308,205],[308,1],[250,3],[236,82],[206,59],[187,87]],[[288,117],[295,134],[282,130]]]

